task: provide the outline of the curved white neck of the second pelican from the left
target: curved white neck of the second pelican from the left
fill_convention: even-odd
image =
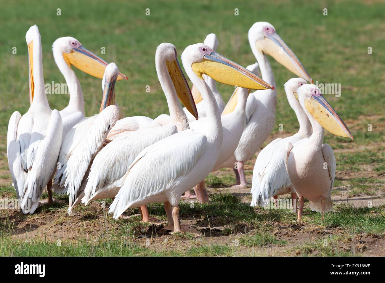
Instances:
[[[84,99],[80,82],[75,72],[65,63],[63,53],[57,49],[54,49],[53,53],[56,65],[63,74],[69,90],[70,100],[67,107],[70,108],[71,111],[80,111],[84,115]]]

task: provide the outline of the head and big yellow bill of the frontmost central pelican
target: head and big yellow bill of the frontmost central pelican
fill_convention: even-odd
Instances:
[[[274,89],[272,85],[215,52],[208,45],[202,43],[189,45],[181,57],[186,72],[192,70],[200,79],[203,79],[202,75],[208,75],[222,84],[246,89]]]

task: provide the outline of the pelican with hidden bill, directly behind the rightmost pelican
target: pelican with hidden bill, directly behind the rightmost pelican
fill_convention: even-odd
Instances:
[[[297,116],[300,129],[293,136],[275,139],[259,152],[253,170],[253,186],[251,188],[253,199],[251,206],[264,206],[271,197],[276,201],[277,196],[287,193],[291,193],[293,201],[297,198],[286,171],[286,152],[283,149],[287,142],[295,144],[311,135],[308,116],[306,116],[294,94],[298,87],[304,84],[306,84],[306,80],[302,78],[290,79],[285,84],[286,97]]]

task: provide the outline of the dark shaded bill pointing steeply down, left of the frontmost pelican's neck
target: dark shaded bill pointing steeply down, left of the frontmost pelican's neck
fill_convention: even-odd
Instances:
[[[186,77],[182,72],[178,59],[173,61],[166,61],[167,69],[169,71],[172,83],[174,84],[176,94],[182,101],[186,109],[198,120],[198,110],[192,97],[189,84],[187,84]]]

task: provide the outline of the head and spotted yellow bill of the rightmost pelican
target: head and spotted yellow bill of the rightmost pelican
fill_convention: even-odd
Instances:
[[[348,127],[314,84],[301,85],[297,90],[298,101],[303,109],[326,130],[340,137],[353,139]]]

